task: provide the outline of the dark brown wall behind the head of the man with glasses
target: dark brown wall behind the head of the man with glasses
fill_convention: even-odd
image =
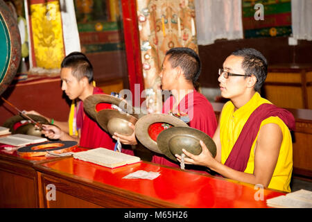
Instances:
[[[214,44],[198,46],[202,60],[202,87],[218,88],[218,68],[232,51],[252,47],[266,56],[268,65],[285,63],[309,63],[312,65],[312,41],[298,41],[297,46],[288,45],[288,37],[263,37],[245,40],[217,40]]]

